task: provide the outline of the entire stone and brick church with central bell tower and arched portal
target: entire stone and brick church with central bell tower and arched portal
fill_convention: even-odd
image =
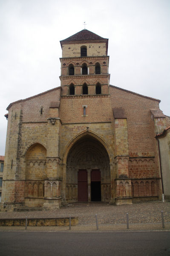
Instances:
[[[160,100],[109,84],[107,38],[60,43],[61,86],[7,108],[2,210],[160,199]]]

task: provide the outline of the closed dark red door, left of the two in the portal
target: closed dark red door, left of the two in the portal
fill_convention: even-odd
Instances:
[[[87,171],[78,171],[78,201],[88,201],[87,200]]]

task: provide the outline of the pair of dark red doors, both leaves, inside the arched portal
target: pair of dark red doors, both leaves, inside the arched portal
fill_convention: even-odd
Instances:
[[[101,201],[101,172],[92,170],[90,173],[91,201]],[[78,171],[78,201],[88,201],[88,173],[86,169]]]

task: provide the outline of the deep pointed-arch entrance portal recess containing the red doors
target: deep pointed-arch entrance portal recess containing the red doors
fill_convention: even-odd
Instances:
[[[111,198],[109,156],[89,134],[70,149],[66,162],[66,201],[104,201]]]

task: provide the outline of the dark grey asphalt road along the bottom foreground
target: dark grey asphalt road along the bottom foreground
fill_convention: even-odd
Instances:
[[[170,232],[0,232],[0,256],[170,256]]]

